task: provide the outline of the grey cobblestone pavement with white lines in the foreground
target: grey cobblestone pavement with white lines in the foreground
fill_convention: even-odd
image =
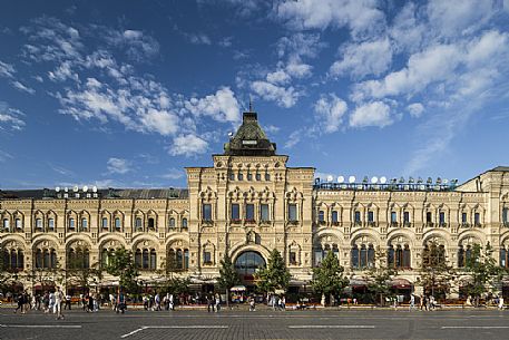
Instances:
[[[0,310],[0,339],[257,340],[257,339],[508,339],[509,311],[224,310],[147,312],[65,311],[65,320]]]

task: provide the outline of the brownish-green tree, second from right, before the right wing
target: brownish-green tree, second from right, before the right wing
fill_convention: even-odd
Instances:
[[[424,293],[433,295],[438,301],[446,298],[450,292],[456,271],[448,264],[442,245],[430,242],[424,246],[419,271],[420,278],[417,284],[423,288]]]

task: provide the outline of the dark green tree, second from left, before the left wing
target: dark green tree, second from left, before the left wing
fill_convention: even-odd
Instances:
[[[128,292],[136,292],[138,284],[136,278],[139,275],[133,261],[133,252],[125,247],[118,247],[108,253],[106,272],[119,279],[119,291],[125,288]]]

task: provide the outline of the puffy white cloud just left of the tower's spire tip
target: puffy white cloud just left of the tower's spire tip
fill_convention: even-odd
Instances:
[[[223,87],[204,98],[192,98],[185,103],[185,107],[196,116],[209,116],[217,122],[241,120],[239,105],[229,87]]]

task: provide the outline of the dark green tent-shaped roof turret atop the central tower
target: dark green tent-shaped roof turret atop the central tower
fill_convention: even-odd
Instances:
[[[226,156],[274,156],[276,144],[260,127],[256,113],[248,111],[243,114],[241,127],[224,148]]]

